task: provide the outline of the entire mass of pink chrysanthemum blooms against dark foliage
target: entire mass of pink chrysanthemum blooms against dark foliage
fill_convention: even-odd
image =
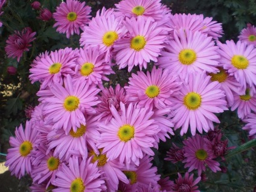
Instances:
[[[115,6],[92,19],[85,2],[56,8],[53,27],[67,38],[80,35],[81,47],[45,51],[31,63],[39,104],[10,138],[5,165],[18,178],[30,174],[32,191],[199,191],[206,165],[220,171],[216,158],[227,150],[214,130],[216,114],[237,110],[255,134],[256,48],[242,39],[221,43],[221,24],[202,14],[171,14],[160,0]],[[34,34],[16,32],[7,54],[19,60]],[[23,43],[19,54],[13,42]],[[132,72],[124,88],[104,86],[114,65]],[[194,181],[188,172],[163,180],[151,162],[173,129],[192,136],[182,149],[173,144],[166,159],[197,170]]]

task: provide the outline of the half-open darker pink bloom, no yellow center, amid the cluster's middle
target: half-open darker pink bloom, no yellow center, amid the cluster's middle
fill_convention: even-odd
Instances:
[[[104,88],[100,92],[98,100],[101,101],[96,106],[98,118],[99,120],[101,120],[101,118],[104,119],[103,121],[106,124],[113,117],[110,107],[114,106],[115,109],[120,112],[120,102],[126,105],[128,102],[128,97],[124,88],[121,88],[121,86],[118,84],[115,86],[115,89],[113,89],[112,86],[109,88]]]

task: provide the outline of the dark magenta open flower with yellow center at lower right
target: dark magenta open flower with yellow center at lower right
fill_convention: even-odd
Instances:
[[[219,162],[215,161],[213,150],[211,150],[205,138],[202,135],[196,134],[195,136],[189,137],[184,143],[184,156],[185,168],[189,167],[188,172],[196,169],[200,176],[202,171],[205,171],[206,165],[214,172],[220,171]]]

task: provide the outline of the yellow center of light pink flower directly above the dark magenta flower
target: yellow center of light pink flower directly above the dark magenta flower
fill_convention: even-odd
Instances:
[[[189,92],[184,97],[184,104],[190,110],[196,110],[201,105],[201,96],[196,92]]]

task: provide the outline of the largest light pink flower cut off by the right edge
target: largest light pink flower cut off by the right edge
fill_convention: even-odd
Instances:
[[[235,79],[242,85],[245,92],[247,84],[256,86],[256,49],[254,45],[247,45],[238,40],[227,40],[225,44],[217,42],[220,47],[220,63],[229,74],[234,75]]]

